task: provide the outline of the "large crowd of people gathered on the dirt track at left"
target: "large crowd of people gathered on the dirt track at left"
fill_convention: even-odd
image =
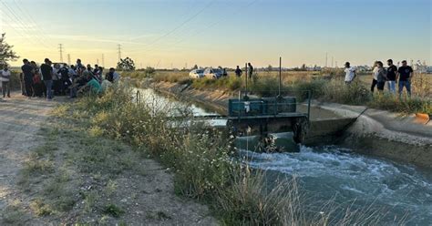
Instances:
[[[35,61],[28,59],[24,59],[23,63],[20,74],[21,90],[22,94],[28,98],[51,100],[55,96],[77,98],[78,93],[84,92],[100,94],[120,78],[118,72],[112,67],[104,77],[103,67],[98,65],[85,67],[80,59],[77,59],[75,66],[67,66],[63,63],[53,64],[48,58],[40,67]],[[5,88],[3,90],[5,93]],[[8,97],[10,97],[9,93]]]

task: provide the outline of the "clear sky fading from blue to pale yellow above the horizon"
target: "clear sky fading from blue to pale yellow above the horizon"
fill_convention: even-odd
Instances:
[[[432,0],[0,0],[19,56],[115,66],[431,64]],[[15,62],[13,65],[20,65]]]

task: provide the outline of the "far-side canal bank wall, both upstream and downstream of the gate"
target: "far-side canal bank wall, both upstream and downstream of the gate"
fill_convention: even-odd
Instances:
[[[222,115],[227,112],[228,99],[238,97],[236,93],[197,90],[173,83],[152,83],[151,87],[165,95],[190,99]],[[305,108],[299,106],[300,110]],[[305,145],[323,144],[337,144],[432,169],[432,123],[415,115],[314,101]]]

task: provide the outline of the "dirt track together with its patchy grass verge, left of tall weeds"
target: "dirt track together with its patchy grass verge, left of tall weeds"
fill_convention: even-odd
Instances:
[[[217,224],[206,206],[175,195],[173,175],[158,162],[114,140],[56,130],[56,119],[50,119],[49,113],[65,101],[67,98],[46,102],[14,94],[0,102],[0,225]],[[53,123],[46,128],[48,122]],[[35,151],[41,159],[32,161],[51,159],[54,167],[30,175],[23,188],[18,185],[20,172]],[[100,163],[90,164],[86,172],[87,162],[82,159]],[[32,203],[36,200],[43,203],[35,208]],[[121,216],[109,215],[108,205],[121,208]]]

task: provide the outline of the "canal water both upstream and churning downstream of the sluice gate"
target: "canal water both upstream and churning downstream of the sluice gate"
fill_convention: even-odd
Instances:
[[[157,99],[162,104],[185,105],[151,89],[141,92],[143,97],[152,97],[143,101]],[[196,105],[190,105],[190,110],[197,116],[216,114]],[[216,124],[223,124],[223,121]],[[395,217],[398,221],[404,216],[407,225],[432,225],[431,171],[356,154],[352,149],[337,146],[298,147],[291,141],[291,133],[274,136],[278,145],[283,144],[287,151],[300,151],[257,153],[252,151],[256,140],[242,138],[237,142],[240,155],[252,168],[266,170],[268,177],[290,179],[294,176],[315,203],[333,200],[342,209],[351,207],[352,210],[372,206],[386,212],[382,225],[392,225]]]

